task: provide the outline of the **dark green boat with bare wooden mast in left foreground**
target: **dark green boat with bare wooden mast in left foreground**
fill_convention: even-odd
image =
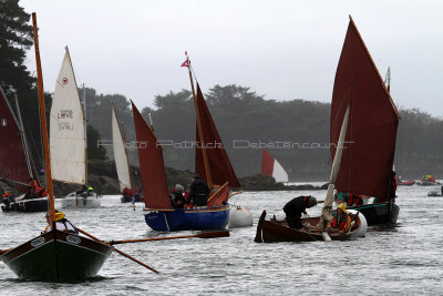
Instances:
[[[1,259],[20,279],[76,283],[95,276],[102,264],[111,255],[113,247],[74,233],[55,229],[54,196],[35,13],[32,13],[32,22],[49,193],[49,217],[52,228],[24,244],[2,251]]]

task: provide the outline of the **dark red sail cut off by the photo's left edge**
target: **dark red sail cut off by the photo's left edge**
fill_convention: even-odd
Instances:
[[[0,89],[0,172],[1,177],[28,184],[30,173],[27,165],[23,142],[16,118],[12,114],[3,90]],[[19,186],[21,192],[27,187]]]

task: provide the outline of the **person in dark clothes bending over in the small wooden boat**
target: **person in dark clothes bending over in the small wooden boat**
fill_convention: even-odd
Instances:
[[[301,214],[307,214],[306,210],[317,205],[317,198],[313,196],[298,196],[289,201],[284,206],[286,214],[286,221],[289,227],[295,229],[301,229],[303,227],[301,223]]]

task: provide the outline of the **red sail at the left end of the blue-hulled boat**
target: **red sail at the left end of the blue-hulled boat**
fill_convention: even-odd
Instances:
[[[145,205],[150,208],[168,208],[171,207],[171,202],[162,146],[157,144],[157,139],[151,127],[147,126],[134,103],[132,103],[132,113],[134,115],[135,135],[137,137]]]

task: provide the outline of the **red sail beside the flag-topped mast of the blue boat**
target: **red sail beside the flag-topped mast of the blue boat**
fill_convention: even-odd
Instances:
[[[230,187],[239,187],[237,176],[234,172],[233,165],[230,164],[229,157],[226,154],[222,139],[218,135],[217,127],[215,127],[213,118],[206,105],[205,98],[200,86],[197,83],[197,108],[198,115],[200,118],[203,137],[205,140],[206,154],[209,162],[210,175],[213,183],[223,185],[225,182],[229,183]],[[195,172],[206,180],[205,164],[203,161],[203,150],[200,146],[200,136],[198,133],[198,126],[196,129],[196,141],[197,147],[195,150]]]

